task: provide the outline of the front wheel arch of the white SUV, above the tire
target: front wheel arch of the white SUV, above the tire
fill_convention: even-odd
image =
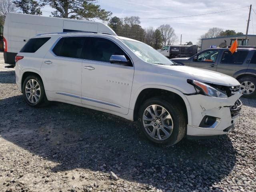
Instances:
[[[174,98],[178,100],[182,106],[184,107],[183,110],[186,112],[186,117],[187,117],[187,123],[191,124],[192,122],[192,117],[191,117],[191,109],[190,109],[190,104],[186,98],[186,96],[180,92],[179,90],[176,90],[171,87],[166,87],[166,86],[144,86],[140,91],[137,91],[136,96],[134,96],[134,102],[132,102],[131,108],[134,110],[133,111],[133,120],[138,119],[138,111],[140,109],[141,104],[154,96],[168,96],[170,99]]]

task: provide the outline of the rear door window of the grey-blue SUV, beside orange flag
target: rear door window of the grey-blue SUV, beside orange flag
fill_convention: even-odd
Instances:
[[[221,62],[226,64],[242,64],[248,55],[248,51],[237,51],[233,54],[230,51],[224,51]]]

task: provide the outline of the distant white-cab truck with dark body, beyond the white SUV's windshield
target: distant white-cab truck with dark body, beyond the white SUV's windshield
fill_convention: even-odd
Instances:
[[[158,52],[169,58],[191,57],[197,53],[197,45],[166,45]]]

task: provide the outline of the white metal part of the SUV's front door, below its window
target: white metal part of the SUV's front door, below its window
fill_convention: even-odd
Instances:
[[[94,70],[85,69],[92,67]],[[82,103],[128,114],[134,68],[84,60],[82,63]]]

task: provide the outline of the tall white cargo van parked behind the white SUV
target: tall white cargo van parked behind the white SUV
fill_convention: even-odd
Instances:
[[[15,65],[15,56],[28,39],[37,34],[84,31],[116,35],[100,22],[7,13],[4,22],[4,62]]]

